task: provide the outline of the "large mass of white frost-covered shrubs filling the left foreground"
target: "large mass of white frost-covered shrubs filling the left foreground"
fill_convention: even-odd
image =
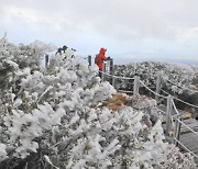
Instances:
[[[108,109],[114,88],[101,82],[96,66],[69,56],[54,56],[45,71],[9,58],[15,86],[4,86],[1,95],[0,168],[195,168],[165,143],[158,116],[152,121],[155,102],[135,106],[132,98],[119,111]]]

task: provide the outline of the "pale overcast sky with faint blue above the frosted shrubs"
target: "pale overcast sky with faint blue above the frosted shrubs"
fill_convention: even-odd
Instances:
[[[198,60],[198,0],[0,0],[0,36],[116,60]]]

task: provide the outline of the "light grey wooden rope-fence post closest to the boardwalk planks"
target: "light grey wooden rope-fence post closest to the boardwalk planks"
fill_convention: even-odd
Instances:
[[[167,97],[167,106],[166,106],[166,135],[169,135],[170,129],[170,117],[172,117],[172,95]]]

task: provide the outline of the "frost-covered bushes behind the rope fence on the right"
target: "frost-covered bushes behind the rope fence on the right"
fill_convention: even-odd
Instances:
[[[118,66],[117,76],[131,77],[135,75],[152,90],[156,89],[157,75],[161,76],[161,94],[168,93],[188,103],[198,105],[198,67],[185,64],[167,64],[143,61]],[[117,88],[122,90],[133,89],[133,80],[117,79]],[[165,91],[165,92],[164,92]],[[144,87],[140,88],[141,93],[151,94]],[[187,104],[177,103],[179,109]]]

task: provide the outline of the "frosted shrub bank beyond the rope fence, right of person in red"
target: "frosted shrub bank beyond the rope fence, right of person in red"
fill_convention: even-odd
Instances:
[[[195,66],[185,64],[143,61],[133,63],[130,65],[121,65],[118,66],[118,69],[116,70],[116,75],[118,76],[140,76],[141,80],[151,89],[156,88],[157,74],[160,74],[162,78],[162,88],[167,92],[180,94],[185,91],[191,93],[190,91],[186,90],[186,88],[197,90],[194,81],[198,74],[198,69]],[[132,90],[132,84],[130,82],[120,80],[120,82],[117,83],[117,87]]]

